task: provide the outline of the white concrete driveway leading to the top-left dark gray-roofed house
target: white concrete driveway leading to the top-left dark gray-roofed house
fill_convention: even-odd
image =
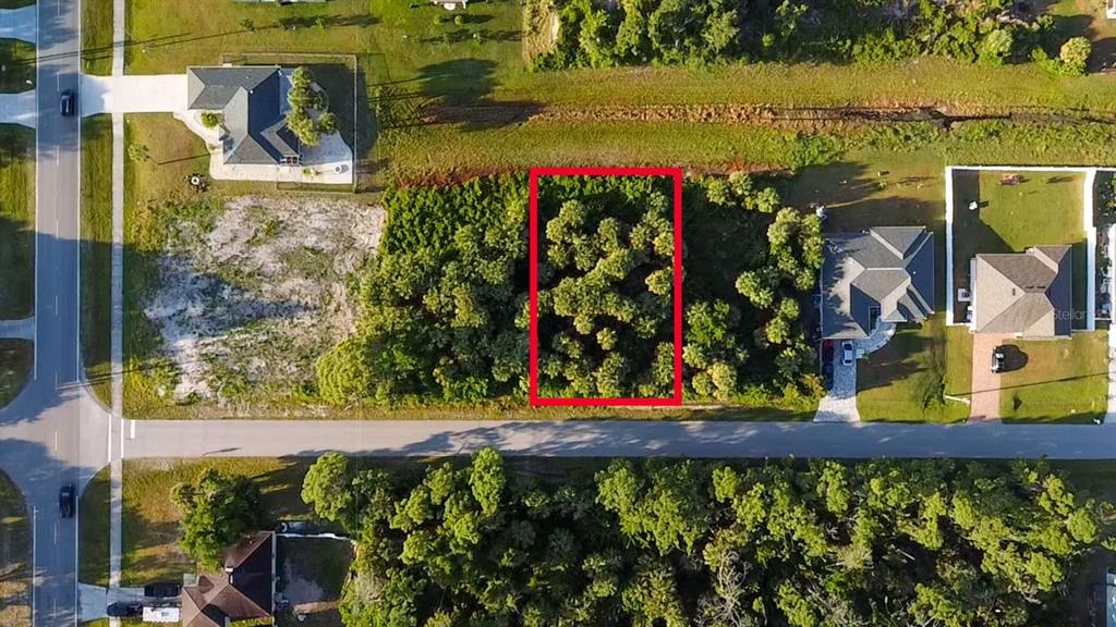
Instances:
[[[186,110],[186,75],[81,75],[81,115],[181,113]]]

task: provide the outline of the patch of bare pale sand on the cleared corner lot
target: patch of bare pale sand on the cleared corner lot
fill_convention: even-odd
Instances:
[[[347,278],[379,245],[384,211],[320,196],[240,196],[175,225],[144,314],[174,364],[176,401],[294,388],[349,335]]]

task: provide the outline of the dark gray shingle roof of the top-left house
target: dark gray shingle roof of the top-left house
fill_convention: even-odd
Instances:
[[[286,122],[289,89],[279,66],[186,68],[186,108],[224,114],[230,165],[299,165],[301,146]]]

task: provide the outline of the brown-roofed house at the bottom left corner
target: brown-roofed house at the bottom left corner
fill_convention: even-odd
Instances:
[[[270,618],[275,572],[275,533],[253,533],[229,547],[221,572],[184,577],[182,627],[225,627],[234,620]]]

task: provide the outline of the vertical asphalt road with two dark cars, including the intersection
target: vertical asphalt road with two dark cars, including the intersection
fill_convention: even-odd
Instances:
[[[33,519],[33,624],[76,625],[77,522],[58,517],[58,490],[84,485],[107,459],[108,419],[80,385],[78,366],[79,125],[62,118],[78,89],[80,12],[39,0],[35,378],[0,411],[3,470]]]

